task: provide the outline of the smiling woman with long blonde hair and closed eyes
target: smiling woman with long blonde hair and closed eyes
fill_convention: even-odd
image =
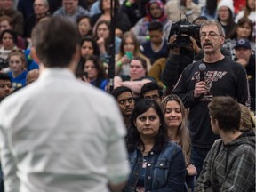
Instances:
[[[167,127],[168,138],[180,145],[186,163],[186,183],[194,191],[194,176],[196,167],[190,164],[190,137],[186,109],[177,95],[168,95],[162,100],[161,108],[164,114],[164,124]]]

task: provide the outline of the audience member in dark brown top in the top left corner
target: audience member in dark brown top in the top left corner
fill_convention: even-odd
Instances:
[[[7,15],[12,18],[12,29],[20,36],[24,32],[24,19],[21,12],[13,9],[14,0],[1,0],[0,16]]]

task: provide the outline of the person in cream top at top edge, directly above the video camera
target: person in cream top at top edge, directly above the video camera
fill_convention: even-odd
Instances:
[[[201,9],[198,4],[191,0],[172,0],[165,4],[165,13],[169,20],[174,22],[180,20],[180,14],[189,21],[195,20],[200,15]]]

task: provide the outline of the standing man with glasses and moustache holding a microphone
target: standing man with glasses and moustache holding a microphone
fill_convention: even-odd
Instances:
[[[214,140],[219,138],[212,132],[208,115],[207,105],[212,97],[228,95],[250,106],[244,68],[220,52],[225,41],[225,31],[220,23],[216,20],[204,21],[200,28],[200,40],[204,58],[183,70],[173,90],[174,94],[180,96],[185,107],[189,108],[191,164],[195,164],[198,175]]]

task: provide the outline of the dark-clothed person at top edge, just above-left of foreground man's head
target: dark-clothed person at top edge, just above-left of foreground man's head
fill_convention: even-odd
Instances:
[[[36,23],[42,18],[49,16],[49,4],[47,0],[35,0],[34,1],[34,12],[29,14],[25,20],[25,33],[24,36],[30,38],[32,29]]]

